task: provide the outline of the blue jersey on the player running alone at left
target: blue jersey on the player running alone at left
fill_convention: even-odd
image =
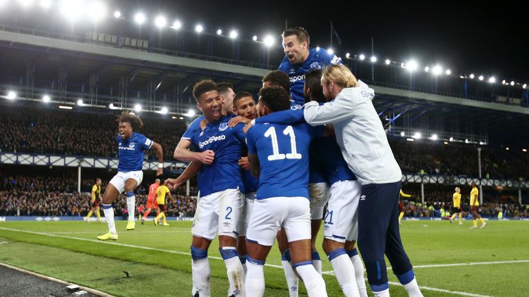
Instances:
[[[118,171],[129,172],[141,170],[143,167],[143,154],[151,148],[152,140],[145,135],[132,132],[132,136],[126,140],[116,136],[118,144]]]

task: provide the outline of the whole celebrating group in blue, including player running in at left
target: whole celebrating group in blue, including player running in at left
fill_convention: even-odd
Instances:
[[[310,49],[304,29],[285,30],[282,40],[285,57],[264,76],[257,103],[229,84],[194,85],[203,115],[174,151],[190,163],[165,180],[169,192],[198,174],[192,296],[210,296],[207,255],[217,235],[228,296],[264,295],[263,267],[276,240],[290,296],[298,296],[298,278],[309,296],[327,296],[315,248],[322,220],[323,250],[345,296],[367,296],[356,241],[375,296],[389,296],[384,254],[408,295],[422,296],[398,227],[402,173],[371,102],[373,89],[337,56]],[[127,230],[134,229],[143,152],[154,149],[157,175],[163,170],[160,144],[132,131],[143,125],[140,118],[123,112],[117,121],[118,174],[103,197],[109,232],[100,240],[118,239],[112,202],[121,192]]]

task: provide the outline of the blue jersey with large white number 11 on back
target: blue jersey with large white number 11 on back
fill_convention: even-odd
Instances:
[[[309,144],[323,133],[309,124],[256,124],[246,135],[248,153],[258,155],[259,188],[256,199],[309,199]]]

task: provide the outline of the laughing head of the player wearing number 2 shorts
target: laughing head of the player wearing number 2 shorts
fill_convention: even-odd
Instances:
[[[202,111],[207,120],[220,119],[222,99],[213,80],[200,80],[196,83],[193,87],[193,96],[196,100],[196,107]]]

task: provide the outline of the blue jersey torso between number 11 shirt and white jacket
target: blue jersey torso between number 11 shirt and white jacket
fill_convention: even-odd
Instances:
[[[334,135],[320,137],[313,142],[315,153],[320,156],[323,174],[329,179],[330,184],[334,184],[336,181],[356,179],[345,162]]]

